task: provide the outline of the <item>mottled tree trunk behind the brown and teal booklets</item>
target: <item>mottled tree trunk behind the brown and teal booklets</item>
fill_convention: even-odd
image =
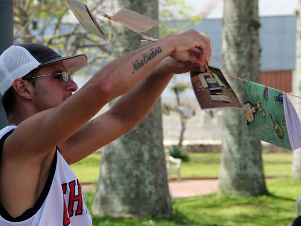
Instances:
[[[222,71],[254,82],[260,66],[258,0],[225,0],[222,34]],[[241,97],[243,83],[227,80]],[[260,195],[267,191],[260,140],[248,136],[243,110],[223,112],[222,157],[218,191]]]

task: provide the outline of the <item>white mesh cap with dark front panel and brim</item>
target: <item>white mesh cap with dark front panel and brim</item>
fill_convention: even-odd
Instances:
[[[62,57],[52,49],[34,43],[9,47],[0,55],[0,93],[4,93],[17,78],[22,78],[35,68],[62,62],[68,72],[78,70],[87,63],[84,54]]]

